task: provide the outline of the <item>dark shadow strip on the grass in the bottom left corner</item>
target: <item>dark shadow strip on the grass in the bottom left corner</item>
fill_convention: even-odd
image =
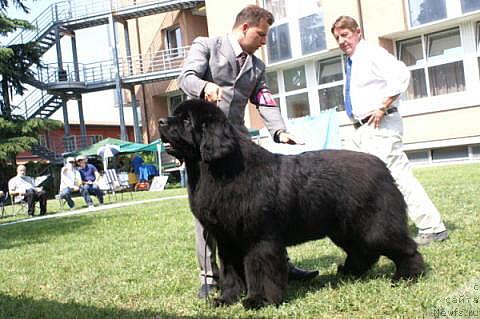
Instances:
[[[27,296],[9,296],[0,293],[0,318],[216,318],[213,316],[185,316],[152,310],[129,310],[117,307],[98,308],[76,302],[60,303]]]

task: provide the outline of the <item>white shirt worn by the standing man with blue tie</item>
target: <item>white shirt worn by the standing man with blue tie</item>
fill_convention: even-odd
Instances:
[[[354,118],[365,118],[383,107],[382,102],[387,97],[407,89],[410,71],[384,48],[360,40],[350,58],[350,99]],[[391,107],[397,103],[398,99]]]

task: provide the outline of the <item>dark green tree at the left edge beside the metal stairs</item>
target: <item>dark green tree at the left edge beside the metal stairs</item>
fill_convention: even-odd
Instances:
[[[25,13],[29,12],[23,0],[12,0],[11,3]],[[25,20],[7,16],[9,0],[0,0],[0,36],[21,29],[32,29]],[[38,144],[37,137],[44,131],[61,127],[59,121],[49,119],[27,120],[13,114],[11,95],[23,95],[23,83],[32,78],[34,73],[30,67],[40,65],[40,51],[35,42],[0,46],[0,168],[15,163],[16,155],[28,151],[32,145]]]

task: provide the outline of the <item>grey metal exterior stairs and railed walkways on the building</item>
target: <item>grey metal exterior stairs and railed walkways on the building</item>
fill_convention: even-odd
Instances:
[[[20,31],[8,45],[36,41],[45,53],[55,45],[57,32],[61,37],[78,29],[108,24],[112,15],[127,20],[192,9],[204,3],[204,0],[60,1],[31,22],[35,29]],[[128,85],[173,79],[180,73],[187,52],[185,47],[128,56],[120,58],[118,67],[113,60],[79,63],[78,74],[72,63],[63,63],[62,70],[56,65],[41,67],[35,71],[35,79],[27,83],[36,90],[17,105],[22,109],[18,113],[26,118],[48,118],[61,107],[61,97],[68,99],[70,92],[81,94],[115,88],[117,70],[122,83]]]

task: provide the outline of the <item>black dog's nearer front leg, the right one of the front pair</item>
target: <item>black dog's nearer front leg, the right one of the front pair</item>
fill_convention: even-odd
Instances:
[[[245,280],[245,308],[280,304],[288,282],[285,247],[273,241],[263,241],[252,247],[245,256]]]

